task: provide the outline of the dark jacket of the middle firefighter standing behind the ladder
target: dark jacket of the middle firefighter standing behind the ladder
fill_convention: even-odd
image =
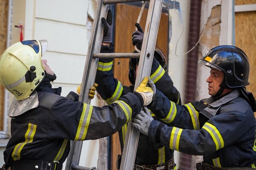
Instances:
[[[113,44],[110,47],[102,45],[101,52],[109,53],[113,52]],[[122,86],[121,82],[113,77],[113,59],[99,59],[95,82],[98,84],[96,88],[98,93],[109,104],[118,100],[122,95],[128,92],[134,91],[134,85]],[[173,86],[172,79],[160,66],[159,62],[154,59],[151,67],[150,78],[158,89],[168,96],[171,101],[180,104],[180,94]],[[157,119],[154,116],[154,119]],[[160,119],[158,119],[160,120]],[[121,145],[121,151],[123,150],[127,125],[123,126],[119,130],[119,141]],[[137,147],[137,153],[135,158],[135,164],[162,164],[169,161],[173,156],[173,150],[163,147],[161,144],[148,141],[148,136],[140,133],[140,138]]]

